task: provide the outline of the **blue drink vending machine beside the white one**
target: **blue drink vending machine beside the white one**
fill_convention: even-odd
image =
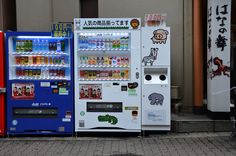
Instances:
[[[7,32],[7,134],[72,134],[72,38]]]

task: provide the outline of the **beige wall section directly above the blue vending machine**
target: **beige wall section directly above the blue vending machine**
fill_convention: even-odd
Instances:
[[[80,0],[17,0],[18,31],[50,31],[54,22],[80,17]]]

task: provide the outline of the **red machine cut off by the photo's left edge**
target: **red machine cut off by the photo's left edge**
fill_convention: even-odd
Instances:
[[[0,31],[0,136],[5,134],[4,33]]]

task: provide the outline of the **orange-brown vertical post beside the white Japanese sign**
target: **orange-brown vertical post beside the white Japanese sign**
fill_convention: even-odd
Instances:
[[[193,0],[193,107],[199,112],[203,106],[203,27],[202,0]]]

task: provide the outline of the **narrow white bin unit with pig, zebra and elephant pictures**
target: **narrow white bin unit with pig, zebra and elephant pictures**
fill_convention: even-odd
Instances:
[[[170,28],[142,28],[142,130],[170,130]]]

